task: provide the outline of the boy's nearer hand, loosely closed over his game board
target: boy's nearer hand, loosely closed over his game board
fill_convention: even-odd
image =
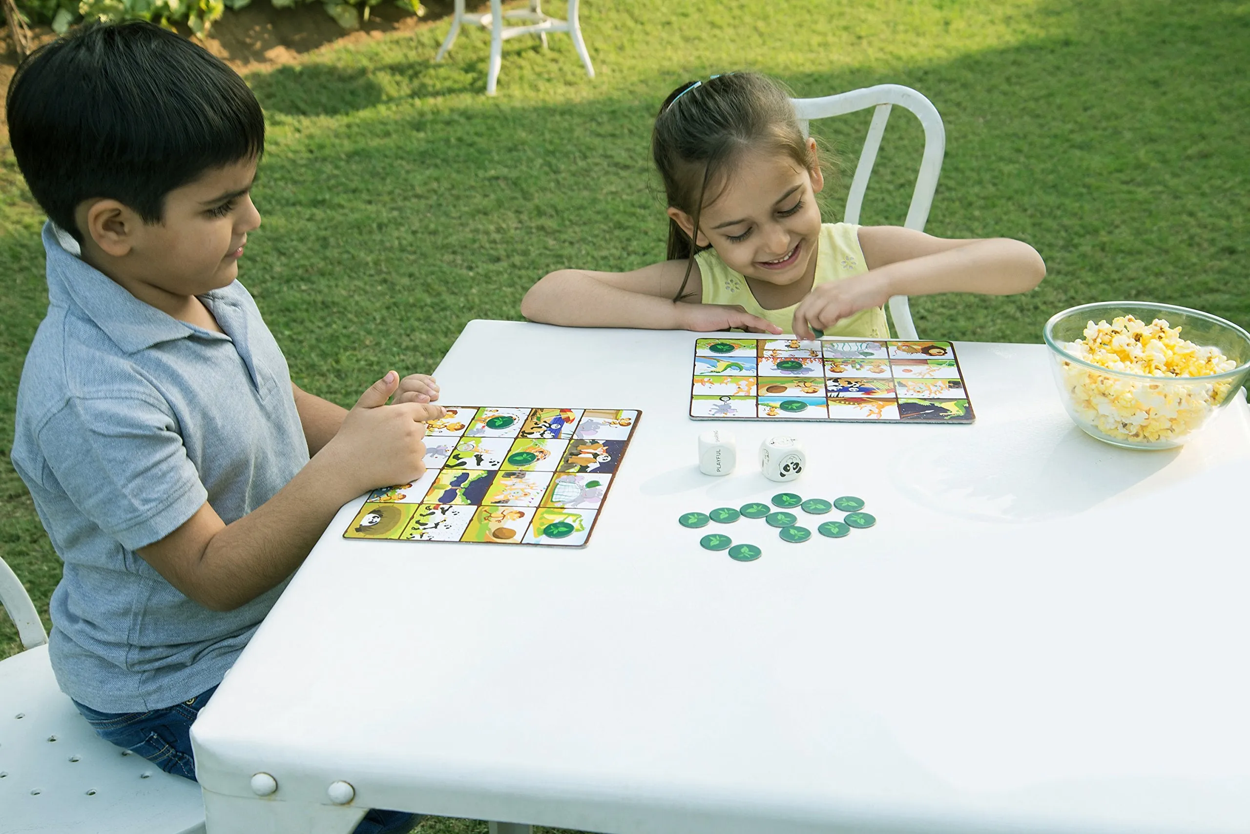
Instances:
[[[399,387],[399,375],[369,386],[348,412],[342,428],[326,443],[330,462],[360,494],[378,487],[415,481],[425,473],[425,421],[444,416],[442,406],[419,402],[386,405]]]

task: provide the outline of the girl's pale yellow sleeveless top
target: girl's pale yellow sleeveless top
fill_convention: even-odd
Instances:
[[[716,250],[705,248],[695,255],[699,272],[702,275],[702,302],[705,305],[741,305],[741,307],[760,318],[781,327],[785,332],[794,330],[794,310],[798,303],[780,310],[765,310],[755,300],[746,278],[720,260]],[[868,272],[864,263],[864,251],[859,245],[859,226],[854,223],[821,223],[816,245],[816,277],[812,288],[829,281],[841,281],[852,275]],[[825,336],[852,336],[855,338],[889,338],[890,328],[885,322],[885,308],[871,307],[841,320]]]

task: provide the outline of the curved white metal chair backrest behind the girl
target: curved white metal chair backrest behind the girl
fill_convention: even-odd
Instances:
[[[911,87],[899,84],[879,84],[875,87],[839,92],[832,96],[792,99],[791,101],[804,135],[808,134],[808,122],[812,119],[829,119],[830,116],[842,116],[876,107],[872,122],[868,129],[868,136],[864,140],[864,150],[860,151],[859,165],[855,166],[855,179],[851,180],[850,194],[846,196],[846,211],[842,220],[848,223],[859,222],[860,208],[864,206],[864,192],[868,190],[868,179],[872,175],[876,151],[881,147],[881,136],[885,134],[885,122],[890,119],[891,107],[899,105],[915,114],[925,130],[925,150],[920,157],[920,174],[916,176],[916,187],[911,192],[908,218],[902,225],[908,228],[924,231],[925,221],[929,220],[929,208],[934,202],[934,192],[938,190],[941,160],[946,154],[946,129],[942,127],[941,116],[929,99]],[[916,338],[916,326],[911,321],[911,308],[908,306],[906,296],[890,298],[890,317],[894,318],[894,328],[900,338]]]

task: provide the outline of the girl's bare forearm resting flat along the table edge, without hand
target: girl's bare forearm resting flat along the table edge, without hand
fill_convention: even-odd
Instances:
[[[578,270],[551,272],[530,287],[521,300],[521,315],[570,327],[681,327],[672,301],[621,290]]]

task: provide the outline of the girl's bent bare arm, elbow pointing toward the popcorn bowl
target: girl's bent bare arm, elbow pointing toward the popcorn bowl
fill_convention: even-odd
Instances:
[[[979,292],[1009,296],[1032,290],[1046,263],[1022,241],[995,237],[959,248],[896,261],[875,270],[891,296]]]

